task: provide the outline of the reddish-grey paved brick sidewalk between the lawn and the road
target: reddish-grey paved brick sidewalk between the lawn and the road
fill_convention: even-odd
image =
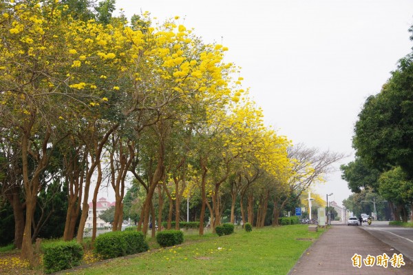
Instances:
[[[394,253],[399,254],[398,251],[357,226],[332,225],[304,252],[288,275],[413,274],[413,263],[409,258],[403,258],[405,265],[400,268],[392,267],[390,262],[388,268],[378,265],[370,267],[364,263],[361,268],[352,266],[351,258],[354,254],[361,255],[363,261],[369,254],[375,257],[383,253],[389,258],[392,258]]]

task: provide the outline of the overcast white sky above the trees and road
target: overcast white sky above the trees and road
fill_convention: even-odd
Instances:
[[[354,159],[353,126],[366,97],[413,45],[412,0],[116,0],[116,7],[128,19],[178,15],[204,43],[222,41],[266,123],[293,143],[352,154],[342,163]],[[340,205],[351,194],[340,172],[315,191],[334,193],[329,201]]]

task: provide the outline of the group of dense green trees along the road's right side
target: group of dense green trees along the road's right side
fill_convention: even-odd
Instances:
[[[407,221],[409,213],[413,221],[412,84],[411,53],[399,61],[381,92],[366,100],[354,127],[356,159],[341,167],[350,190],[378,192],[398,221]]]

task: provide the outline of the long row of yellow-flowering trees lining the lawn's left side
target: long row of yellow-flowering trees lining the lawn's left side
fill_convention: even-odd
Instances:
[[[165,199],[178,227],[191,194],[203,234],[207,209],[220,224],[223,196],[231,221],[238,199],[244,223],[264,226],[268,201],[277,223],[343,157],[293,147],[266,127],[222,45],[202,43],[178,17],[129,23],[113,10],[113,0],[0,1],[0,202],[12,207],[23,258],[33,260],[36,228],[54,212],[43,204],[56,194],[67,200],[65,240],[83,241],[89,213],[96,225],[105,183],[120,230],[127,175],[145,190],[138,230],[147,233],[149,216],[160,224]]]

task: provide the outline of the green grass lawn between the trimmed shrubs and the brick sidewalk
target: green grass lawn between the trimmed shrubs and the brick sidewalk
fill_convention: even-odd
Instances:
[[[182,245],[94,263],[71,274],[287,274],[321,232],[288,225],[221,237],[186,235]]]

